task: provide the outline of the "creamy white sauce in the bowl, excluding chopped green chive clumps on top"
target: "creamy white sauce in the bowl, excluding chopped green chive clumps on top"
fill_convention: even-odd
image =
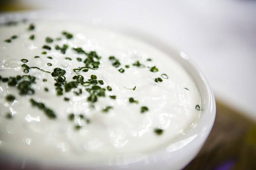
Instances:
[[[31,23],[34,29],[29,30]],[[19,22],[2,25],[0,33],[1,152],[37,160],[83,162],[98,161],[99,156],[149,153],[177,140],[200,117],[200,95],[190,75],[171,56],[141,41],[102,28],[66,22]],[[47,37],[53,42],[46,42]],[[68,46],[65,54],[55,49],[63,44]],[[44,45],[51,50],[43,49]],[[95,51],[101,57],[98,68],[79,70],[85,66],[87,57],[72,49],[79,47],[86,53]],[[46,54],[42,54],[44,51]],[[114,56],[120,65],[114,67],[115,60],[109,56]],[[136,66],[137,61],[141,65]],[[30,67],[28,73],[24,73],[23,64]],[[88,101],[90,93],[86,89],[92,85],[86,87],[81,83],[69,92],[64,90],[63,95],[56,95],[57,77],[51,73],[57,67],[66,71],[66,82],[75,81],[75,75],[82,75],[83,81],[96,75],[97,80],[103,81],[97,86],[106,89],[105,97]],[[75,68],[78,69],[74,71]],[[158,71],[150,71],[152,68]],[[36,77],[31,86],[34,94],[20,95],[18,85],[3,82],[3,78],[17,75]],[[108,91],[107,86],[112,90]],[[63,89],[63,84],[60,87]],[[7,101],[8,95],[15,100]],[[129,98],[135,102],[129,102]],[[38,106],[32,106],[30,99],[43,103],[56,118],[49,118]],[[148,110],[141,113],[143,106]]]

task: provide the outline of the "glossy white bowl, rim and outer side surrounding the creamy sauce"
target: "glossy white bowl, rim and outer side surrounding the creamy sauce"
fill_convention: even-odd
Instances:
[[[98,18],[83,18],[81,15],[76,14],[64,14],[54,13],[49,11],[34,11],[34,12],[22,12],[22,13],[6,13],[0,15],[0,23],[4,23],[9,20],[22,20],[27,18],[33,19],[50,19],[50,20],[77,20],[83,21],[87,24],[102,25],[112,29],[111,24],[107,22],[98,22]],[[116,28],[115,28],[116,29]],[[122,32],[122,30],[121,30]],[[89,168],[89,169],[182,169],[184,168],[199,152],[204,144],[207,136],[209,135],[216,114],[216,105],[213,92],[204,78],[201,71],[195,66],[195,62],[187,56],[184,52],[173,50],[169,45],[155,42],[154,46],[164,51],[170,56],[173,56],[175,60],[181,63],[187,72],[196,82],[200,96],[201,96],[201,117],[198,120],[198,124],[195,128],[189,131],[187,134],[181,136],[177,141],[166,145],[165,147],[148,153],[148,154],[126,154],[117,156],[115,158],[109,158],[109,160],[101,161],[97,165],[83,165],[83,164],[48,164],[45,161],[33,162],[26,158],[20,160],[13,155],[0,154],[1,163],[3,167],[15,167],[15,168],[57,168],[57,169],[74,169],[74,168]]]

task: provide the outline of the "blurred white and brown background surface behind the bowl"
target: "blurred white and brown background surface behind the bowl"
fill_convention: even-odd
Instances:
[[[204,147],[185,169],[256,169],[255,0],[0,1],[1,13],[35,10],[77,13],[187,53],[214,91],[217,116]]]

